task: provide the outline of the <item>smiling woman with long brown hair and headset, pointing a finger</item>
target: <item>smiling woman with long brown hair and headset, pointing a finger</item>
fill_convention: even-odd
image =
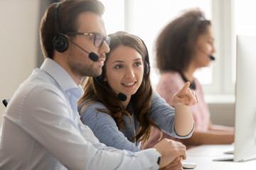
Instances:
[[[133,152],[149,139],[151,126],[173,137],[190,137],[190,106],[198,99],[188,89],[189,83],[174,96],[174,110],[152,90],[144,42],[121,31],[109,36],[110,52],[102,75],[88,77],[83,84],[85,94],[78,101],[82,123],[105,145]]]

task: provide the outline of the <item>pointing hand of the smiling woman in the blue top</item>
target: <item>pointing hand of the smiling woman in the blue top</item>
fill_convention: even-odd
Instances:
[[[186,82],[181,90],[179,90],[172,99],[174,107],[177,105],[193,106],[198,103],[198,96],[195,91],[189,89],[190,82]]]

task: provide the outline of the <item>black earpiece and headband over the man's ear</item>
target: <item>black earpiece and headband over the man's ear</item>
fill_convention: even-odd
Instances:
[[[53,37],[53,47],[55,48],[56,51],[58,52],[65,52],[65,50],[68,49],[68,39],[65,38],[64,35],[60,34],[60,27],[58,23],[58,8],[60,6],[60,2],[56,4],[55,6],[55,20],[54,20],[54,25],[55,25],[55,35]]]

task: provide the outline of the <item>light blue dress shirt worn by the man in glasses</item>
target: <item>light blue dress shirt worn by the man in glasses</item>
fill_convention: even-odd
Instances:
[[[18,87],[0,130],[0,169],[158,169],[159,152],[106,147],[80,121],[82,96],[68,72],[46,59]]]

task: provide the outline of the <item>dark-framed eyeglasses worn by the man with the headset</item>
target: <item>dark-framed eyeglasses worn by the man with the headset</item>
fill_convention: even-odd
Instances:
[[[93,37],[93,44],[95,47],[101,47],[103,42],[105,41],[107,43],[107,46],[110,45],[110,37],[105,37],[100,33],[64,33],[67,35],[85,35],[85,36],[92,36]]]

